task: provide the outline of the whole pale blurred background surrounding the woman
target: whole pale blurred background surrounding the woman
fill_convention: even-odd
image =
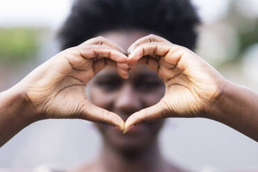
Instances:
[[[196,52],[225,78],[258,91],[258,1],[193,0],[203,24]],[[55,33],[72,0],[0,5],[0,92],[58,53]],[[164,156],[193,171],[258,171],[258,144],[208,119],[169,119],[160,135]],[[33,123],[0,148],[0,171],[69,169],[90,161],[101,138],[92,123]],[[39,167],[40,166],[40,167]]]

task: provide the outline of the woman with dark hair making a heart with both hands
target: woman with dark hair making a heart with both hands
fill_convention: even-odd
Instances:
[[[72,171],[137,172],[183,171],[160,155],[167,117],[214,119],[258,140],[257,93],[190,50],[196,24],[187,0],[76,1],[60,31],[65,50],[0,94],[0,145],[34,121],[85,119],[105,123],[103,147]]]

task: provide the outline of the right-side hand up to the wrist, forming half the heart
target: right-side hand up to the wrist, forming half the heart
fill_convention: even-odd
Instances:
[[[205,117],[223,95],[226,80],[195,53],[156,35],[143,37],[128,49],[130,71],[146,64],[166,85],[159,103],[132,114],[130,126],[167,117]]]

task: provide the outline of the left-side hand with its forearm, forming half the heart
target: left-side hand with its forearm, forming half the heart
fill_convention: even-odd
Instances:
[[[85,119],[123,130],[124,122],[117,114],[89,102],[86,87],[108,65],[128,78],[126,62],[123,50],[103,37],[87,40],[47,60],[0,94],[3,119],[0,120],[0,146],[25,126],[41,119]]]

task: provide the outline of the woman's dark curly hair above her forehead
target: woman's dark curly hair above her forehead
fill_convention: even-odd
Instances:
[[[198,23],[189,0],[77,0],[58,37],[67,49],[104,31],[138,28],[193,49]]]

